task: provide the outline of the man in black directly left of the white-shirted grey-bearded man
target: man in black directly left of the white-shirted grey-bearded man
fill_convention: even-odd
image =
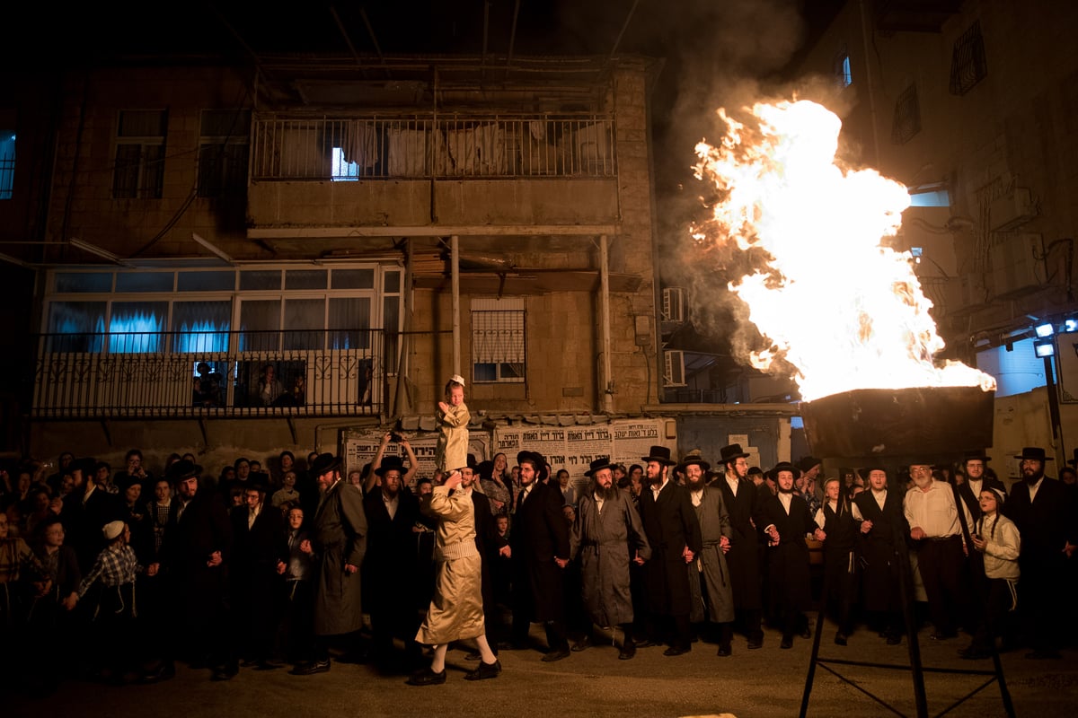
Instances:
[[[887,490],[887,471],[881,466],[861,469],[869,490],[854,496],[849,512],[860,522],[862,604],[869,625],[887,637],[887,645],[901,640],[902,606],[899,551],[906,550],[910,533],[902,512],[902,498]]]

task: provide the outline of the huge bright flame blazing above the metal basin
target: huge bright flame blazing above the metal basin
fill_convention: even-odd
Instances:
[[[855,389],[981,386],[995,380],[944,344],[908,252],[882,245],[910,196],[874,170],[835,164],[841,121],[808,101],[758,103],[751,126],[719,115],[718,146],[701,142],[697,179],[711,180],[714,216],[693,228],[709,247],[763,250],[766,267],[730,283],[771,347],[752,366],[792,365],[804,400]]]

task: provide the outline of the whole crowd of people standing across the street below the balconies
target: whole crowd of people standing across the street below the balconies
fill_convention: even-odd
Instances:
[[[1046,477],[1042,449],[1015,457],[1010,491],[983,452],[830,478],[811,456],[768,471],[748,459],[727,446],[711,470],[699,451],[677,461],[655,446],[628,467],[597,459],[573,484],[523,450],[426,477],[387,433],[353,471],[290,451],[216,477],[190,454],[151,474],[138,449],[119,471],[70,453],[52,474],[22,464],[0,473],[0,631],[26,650],[0,673],[42,689],[166,680],[178,661],[216,680],[240,667],[307,676],[333,650],[431,685],[448,647],[480,661],[468,677],[482,679],[500,650],[561,661],[597,629],[620,637],[621,660],[701,642],[729,657],[735,635],[763,647],[764,628],[790,648],[811,637],[816,606],[835,644],[860,632],[898,645],[915,586],[914,628],[967,633],[963,658],[1026,646],[1053,659],[1073,639],[1056,608],[1076,576],[1078,475]]]

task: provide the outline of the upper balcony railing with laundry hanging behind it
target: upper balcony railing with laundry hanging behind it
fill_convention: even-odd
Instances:
[[[614,177],[605,115],[257,118],[251,178]]]

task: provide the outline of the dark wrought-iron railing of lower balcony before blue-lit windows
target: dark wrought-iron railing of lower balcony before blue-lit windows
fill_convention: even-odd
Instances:
[[[37,418],[378,414],[399,335],[381,329],[45,334]]]

